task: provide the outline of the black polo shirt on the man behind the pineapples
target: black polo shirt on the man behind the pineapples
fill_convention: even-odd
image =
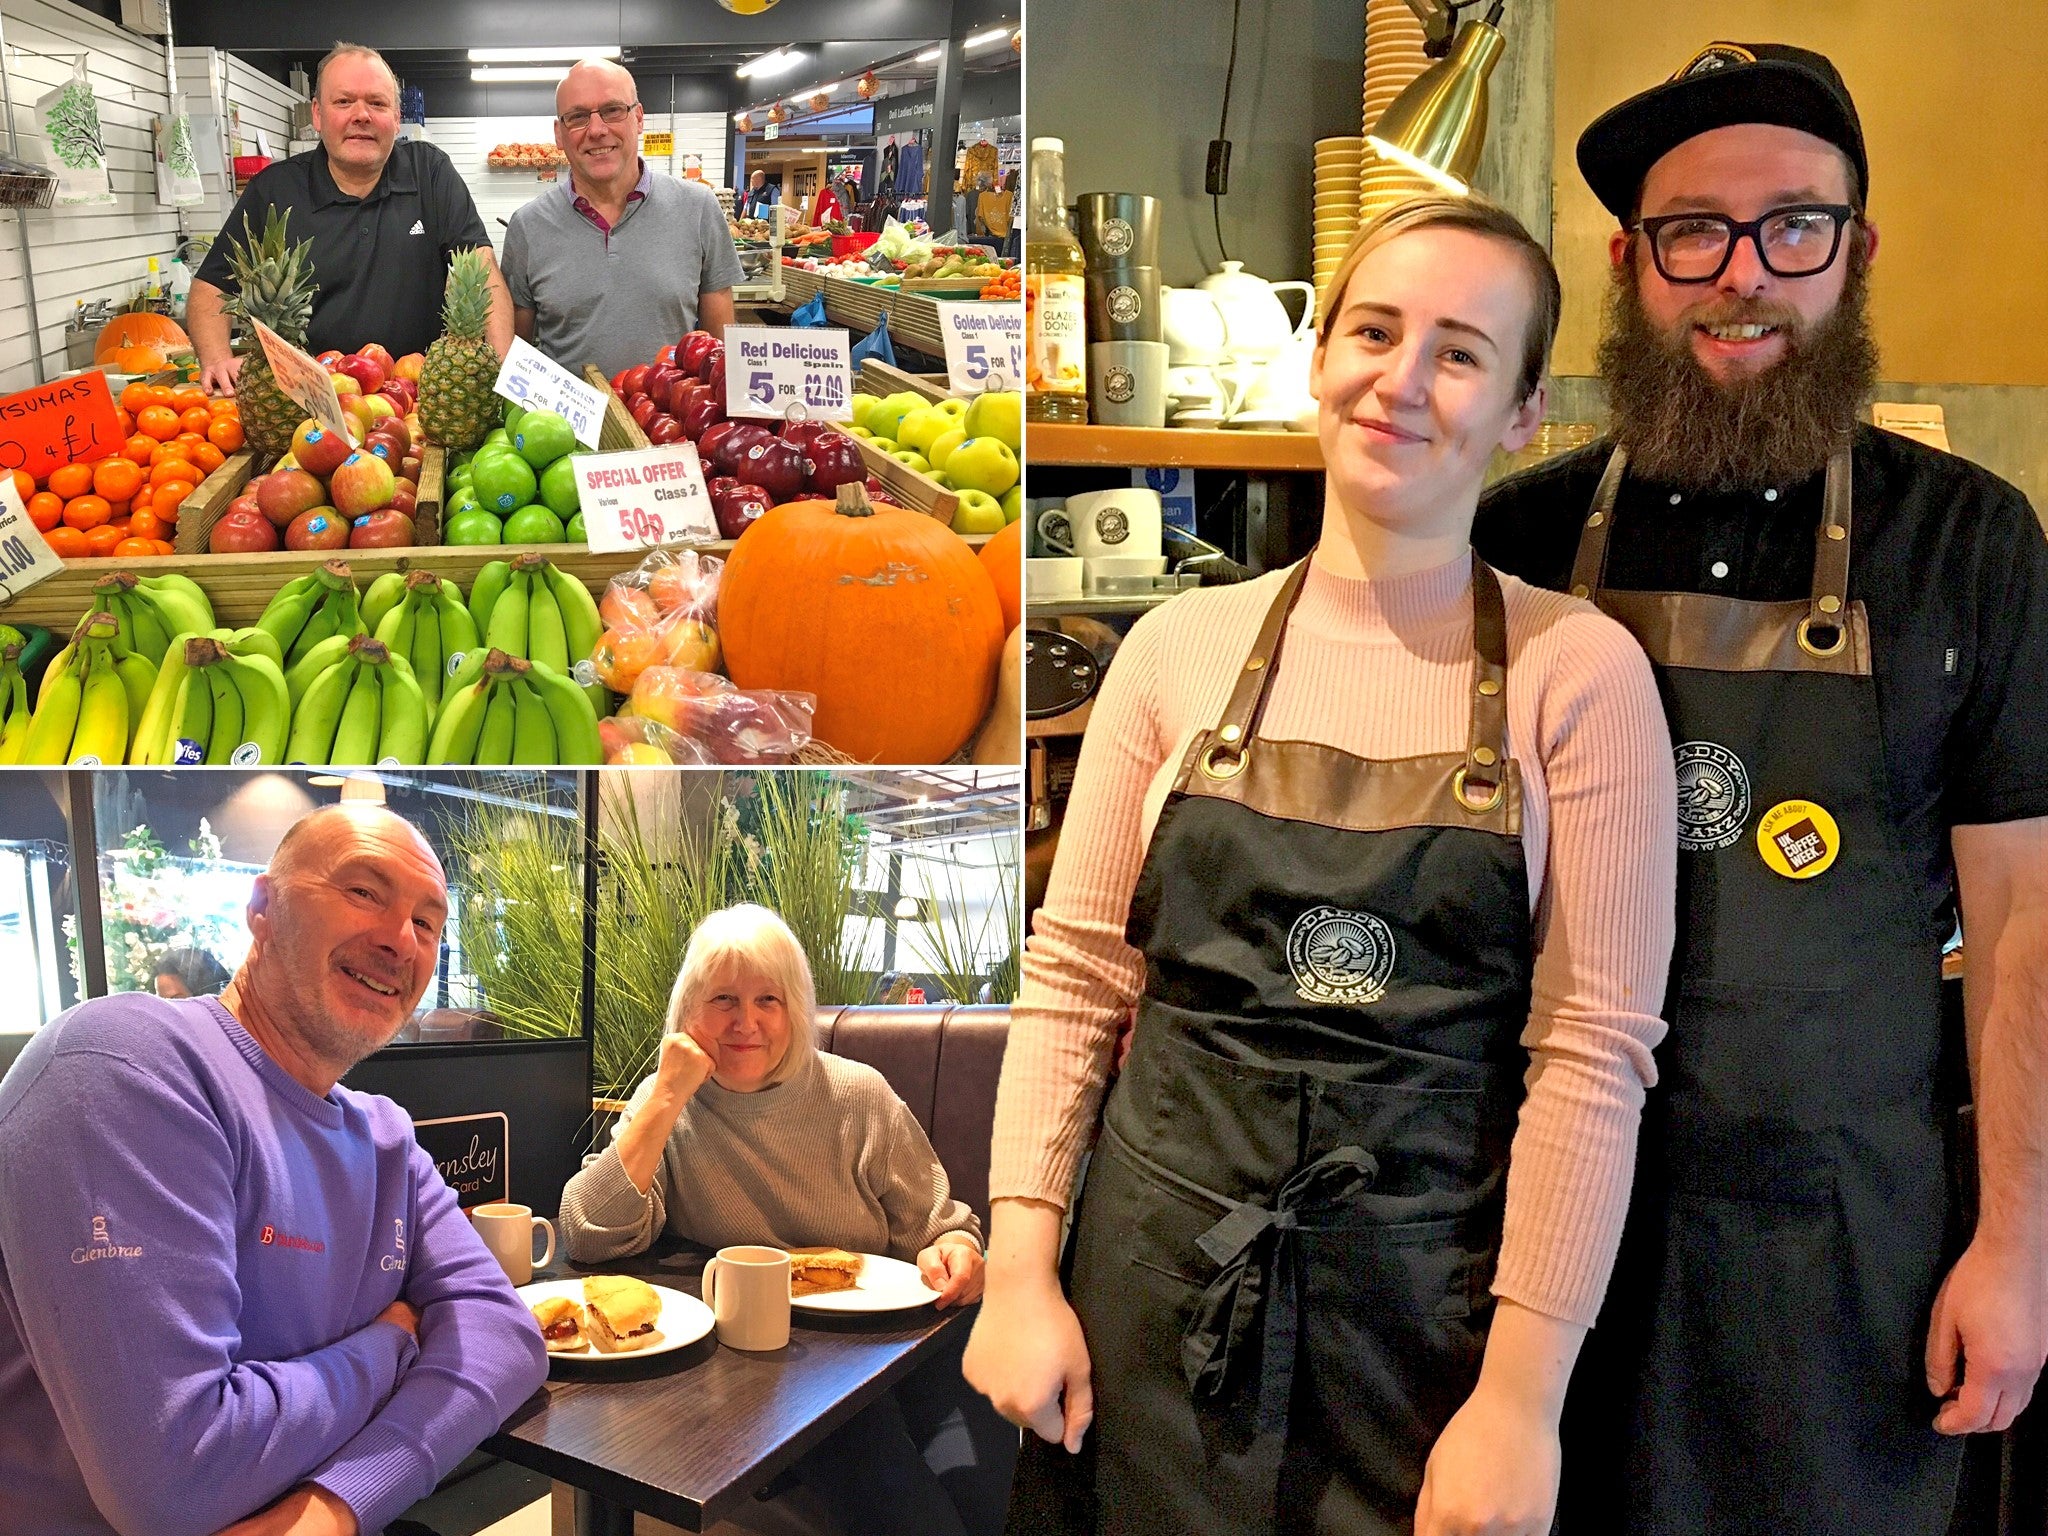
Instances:
[[[242,244],[244,213],[260,240],[272,207],[291,209],[291,244],[313,242],[319,293],[307,352],[354,352],[371,342],[383,342],[391,356],[424,352],[440,336],[449,256],[492,244],[469,188],[436,145],[393,143],[369,197],[336,186],[319,147],[256,172],[195,276],[240,293],[227,266],[229,242]]]

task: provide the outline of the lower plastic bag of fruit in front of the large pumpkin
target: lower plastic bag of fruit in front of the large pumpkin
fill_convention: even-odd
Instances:
[[[715,672],[651,666],[598,735],[608,764],[788,762],[809,745],[815,715],[815,694],[748,692]]]

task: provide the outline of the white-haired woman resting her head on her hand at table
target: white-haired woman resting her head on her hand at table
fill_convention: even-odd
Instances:
[[[664,1231],[702,1247],[831,1245],[915,1262],[938,1307],[979,1300],[981,1223],[889,1081],[817,1049],[815,1010],[811,963],[774,911],[727,907],[696,926],[653,1075],[561,1192],[573,1262],[641,1253]],[[827,1528],[1001,1524],[1016,1432],[967,1391],[961,1348],[799,1462]]]

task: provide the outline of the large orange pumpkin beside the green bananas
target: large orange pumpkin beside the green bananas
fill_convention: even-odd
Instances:
[[[819,741],[862,762],[952,758],[989,711],[1001,623],[965,539],[860,485],[764,514],[719,586],[733,682],[817,694]]]

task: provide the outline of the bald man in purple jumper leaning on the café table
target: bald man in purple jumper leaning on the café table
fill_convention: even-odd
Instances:
[[[408,821],[315,811],[223,995],[80,1004],[0,1081],[8,1536],[371,1536],[541,1386],[406,1112],[338,1085],[446,915]]]

